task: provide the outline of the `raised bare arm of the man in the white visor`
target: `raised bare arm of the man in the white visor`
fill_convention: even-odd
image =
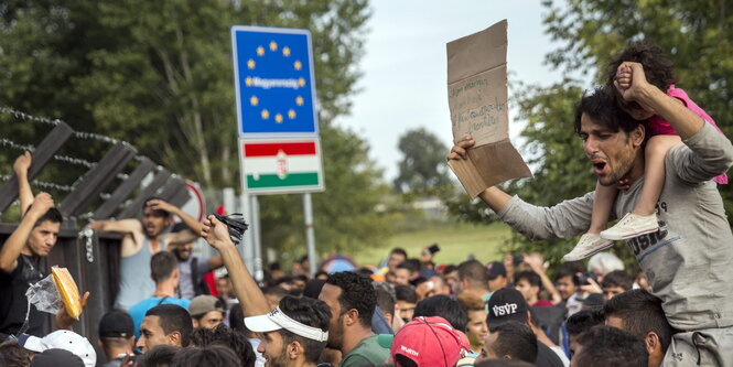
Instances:
[[[257,282],[245,267],[239,251],[229,238],[229,229],[216,217],[209,215],[203,224],[201,237],[222,255],[224,266],[229,273],[234,292],[241,302],[245,316],[262,315],[270,312],[270,306]]]

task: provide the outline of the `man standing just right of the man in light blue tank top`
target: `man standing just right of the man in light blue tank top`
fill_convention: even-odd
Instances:
[[[171,229],[172,234],[188,233],[185,223],[176,223]],[[192,300],[196,295],[211,294],[208,285],[204,282],[204,274],[224,265],[218,256],[198,258],[193,256],[193,240],[184,244],[169,241],[169,250],[179,259],[179,298]]]

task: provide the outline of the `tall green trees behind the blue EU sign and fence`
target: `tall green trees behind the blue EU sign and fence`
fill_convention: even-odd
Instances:
[[[238,186],[229,26],[309,29],[328,187],[314,195],[319,246],[363,245],[389,233],[373,211],[380,172],[367,144],[333,121],[349,111],[369,15],[367,0],[9,0],[0,104],[127,140],[204,187]],[[300,196],[263,197],[261,207],[265,244],[303,237],[293,231]]]

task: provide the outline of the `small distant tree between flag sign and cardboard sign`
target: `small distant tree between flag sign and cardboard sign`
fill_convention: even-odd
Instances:
[[[400,137],[398,147],[403,158],[395,191],[419,194],[452,185],[445,165],[448,148],[434,133],[424,128],[409,130]]]

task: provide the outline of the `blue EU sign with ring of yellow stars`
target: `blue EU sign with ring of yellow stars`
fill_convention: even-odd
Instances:
[[[239,137],[317,134],[311,33],[234,25],[231,48]]]

